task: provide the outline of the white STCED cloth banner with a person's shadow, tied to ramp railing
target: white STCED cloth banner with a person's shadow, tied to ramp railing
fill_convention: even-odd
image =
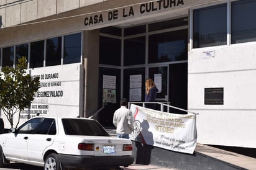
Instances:
[[[170,114],[132,104],[134,132],[130,140],[182,153],[196,148],[196,115]]]

